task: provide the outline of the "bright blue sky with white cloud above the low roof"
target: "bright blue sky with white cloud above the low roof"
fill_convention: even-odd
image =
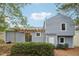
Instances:
[[[53,3],[33,3],[25,6],[22,13],[27,17],[27,23],[33,27],[42,27],[44,21],[58,12]]]

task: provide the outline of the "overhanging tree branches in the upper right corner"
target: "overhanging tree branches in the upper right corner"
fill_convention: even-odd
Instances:
[[[76,25],[79,25],[79,3],[63,3],[56,4],[56,6],[58,7],[58,11],[64,11],[65,14],[75,19],[74,22],[76,23]]]

